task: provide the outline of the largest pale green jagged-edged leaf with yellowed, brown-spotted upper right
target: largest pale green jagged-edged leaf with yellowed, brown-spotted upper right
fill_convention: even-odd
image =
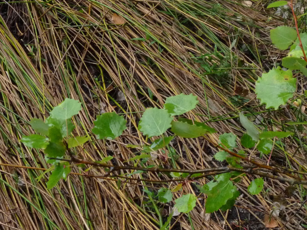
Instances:
[[[292,71],[283,71],[280,66],[263,73],[255,88],[257,98],[266,104],[266,109],[278,109],[279,105],[286,104],[288,99],[293,97],[295,90],[296,78],[292,77]]]

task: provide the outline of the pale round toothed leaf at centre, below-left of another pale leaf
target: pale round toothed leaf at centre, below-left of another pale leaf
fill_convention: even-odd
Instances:
[[[148,108],[145,110],[138,128],[148,137],[159,136],[171,127],[173,118],[165,109]]]

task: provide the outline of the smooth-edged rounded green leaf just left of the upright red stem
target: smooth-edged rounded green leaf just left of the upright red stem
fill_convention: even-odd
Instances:
[[[270,37],[272,43],[280,50],[287,49],[296,39],[296,30],[288,26],[278,26],[271,29]]]

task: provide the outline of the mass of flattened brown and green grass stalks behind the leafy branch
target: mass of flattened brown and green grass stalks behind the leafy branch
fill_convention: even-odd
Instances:
[[[200,106],[188,116],[212,121],[208,125],[219,130],[210,136],[212,140],[218,140],[223,132],[242,135],[244,131],[234,117],[239,110],[260,114],[270,127],[279,127],[281,119],[297,120],[297,111],[285,109],[285,115],[284,111],[268,112],[258,107],[252,94],[258,75],[271,67],[268,60],[279,55],[268,46],[269,29],[284,23],[275,17],[268,23],[267,15],[272,12],[264,9],[262,2],[256,1],[251,8],[225,0],[2,3],[1,163],[49,167],[41,152],[24,148],[19,140],[22,134],[33,132],[28,125],[32,117],[44,119],[66,97],[78,99],[83,105],[74,120],[76,135],[87,135],[95,116],[103,111],[125,114],[129,123],[124,135],[115,141],[91,140],[77,149],[78,157],[92,161],[115,155],[115,164],[134,156],[137,150],[126,148],[127,144],[146,144],[137,129],[140,113],[135,112],[161,107],[166,97],[180,93],[198,96]],[[114,13],[126,23],[114,25]],[[208,71],[212,66],[215,68]],[[230,99],[239,87],[249,89],[250,94],[241,107]],[[122,93],[124,100],[119,97]],[[179,156],[176,167],[218,166],[212,160],[216,149],[201,138],[177,138],[172,145]],[[299,151],[292,157],[296,148]],[[286,143],[286,148],[274,157],[277,163],[287,159],[288,166],[305,170],[305,153],[297,141]],[[144,186],[158,188],[157,184],[122,181],[118,189],[116,180],[87,177],[82,175],[84,170],[74,167],[73,172],[80,175],[70,175],[67,182],[47,190],[48,172],[2,166],[0,224],[8,229],[159,229],[157,215],[142,205]],[[87,172],[96,176],[104,173],[100,168]],[[143,177],[167,178],[155,173]],[[244,198],[236,210],[246,210],[261,223],[263,214],[270,212],[270,198],[250,197],[247,185],[251,179],[247,177],[238,184]],[[270,180],[266,183],[273,186],[271,195],[286,186]],[[298,189],[305,190],[303,186]],[[184,192],[195,194],[191,185]],[[299,200],[297,194],[286,208],[287,218],[295,213]],[[170,207],[164,209],[169,212]],[[200,199],[191,212],[195,229],[231,228],[228,212],[208,219],[203,210],[204,200]],[[297,228],[303,212],[286,227]],[[184,216],[174,218],[178,221],[173,229],[178,225],[190,228]],[[282,226],[285,221],[280,221]]]

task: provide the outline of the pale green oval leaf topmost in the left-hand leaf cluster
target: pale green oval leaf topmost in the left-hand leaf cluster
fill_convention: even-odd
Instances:
[[[66,120],[76,115],[81,110],[81,103],[77,100],[66,98],[50,112],[52,118]]]

